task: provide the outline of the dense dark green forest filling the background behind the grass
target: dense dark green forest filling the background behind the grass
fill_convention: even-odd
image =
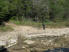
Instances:
[[[66,21],[68,25],[69,0],[0,0],[0,24],[11,19],[39,23]]]

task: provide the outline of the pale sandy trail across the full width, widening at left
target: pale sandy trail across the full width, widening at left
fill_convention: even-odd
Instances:
[[[42,30],[42,28],[39,29],[32,26],[17,26],[12,23],[6,25],[12,26],[14,30],[11,32],[0,32],[0,45],[6,44],[7,41],[11,40],[11,43],[13,42],[14,44],[18,35],[25,36],[26,38],[40,36],[61,36],[64,34],[69,35],[69,28],[46,28],[46,30]]]

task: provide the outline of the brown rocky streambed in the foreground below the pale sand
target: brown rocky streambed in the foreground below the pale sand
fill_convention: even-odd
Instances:
[[[18,42],[9,50],[12,52],[43,52],[54,48],[69,48],[69,35],[39,36],[32,38],[20,36]]]

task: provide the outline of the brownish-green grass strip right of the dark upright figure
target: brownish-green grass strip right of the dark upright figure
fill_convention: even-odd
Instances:
[[[64,27],[69,27],[69,21],[61,21],[61,22],[46,22],[46,27],[49,28],[64,28]]]

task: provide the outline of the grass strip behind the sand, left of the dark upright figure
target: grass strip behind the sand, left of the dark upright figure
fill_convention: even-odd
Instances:
[[[12,23],[14,23],[14,24],[16,24],[16,25],[41,27],[41,23],[39,23],[39,22],[34,22],[34,21],[32,21],[32,20],[26,20],[26,19],[24,19],[23,21],[11,20],[10,22],[12,22]]]

